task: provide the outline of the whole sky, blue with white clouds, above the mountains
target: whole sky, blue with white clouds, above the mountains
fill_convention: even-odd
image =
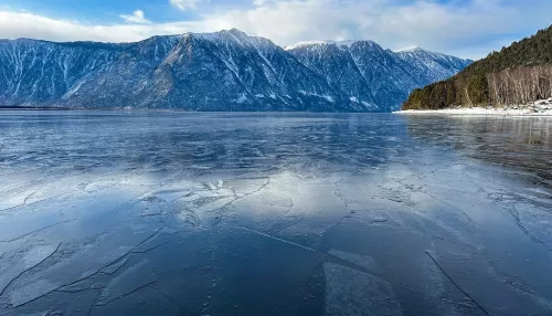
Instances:
[[[236,28],[286,46],[372,40],[481,59],[552,23],[551,0],[0,0],[0,39],[132,42]]]

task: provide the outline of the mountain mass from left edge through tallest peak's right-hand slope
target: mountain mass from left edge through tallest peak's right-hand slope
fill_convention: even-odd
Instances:
[[[237,30],[131,44],[17,40],[1,45],[4,105],[362,110],[343,103],[279,46]]]

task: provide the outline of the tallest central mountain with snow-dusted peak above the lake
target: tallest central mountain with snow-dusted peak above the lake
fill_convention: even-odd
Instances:
[[[158,73],[169,74],[179,86],[169,102],[199,110],[352,110],[279,46],[237,30],[184,35]]]

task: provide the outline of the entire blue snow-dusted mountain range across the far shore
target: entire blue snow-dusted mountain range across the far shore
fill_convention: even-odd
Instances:
[[[284,49],[235,29],[117,44],[0,40],[0,107],[391,112],[470,63],[371,41]]]

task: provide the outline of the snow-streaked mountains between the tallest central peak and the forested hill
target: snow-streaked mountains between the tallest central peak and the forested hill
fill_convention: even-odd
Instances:
[[[286,50],[351,101],[382,110],[399,108],[414,88],[471,63],[422,49],[392,52],[371,41],[301,42]]]

